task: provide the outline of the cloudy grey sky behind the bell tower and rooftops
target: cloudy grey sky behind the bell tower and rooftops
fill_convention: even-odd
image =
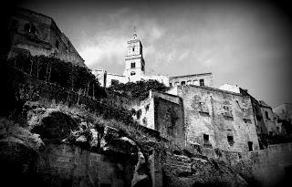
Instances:
[[[122,73],[137,27],[148,74],[213,72],[272,107],[292,102],[291,24],[271,1],[23,1],[51,16],[89,68]],[[286,7],[286,9],[285,9]]]

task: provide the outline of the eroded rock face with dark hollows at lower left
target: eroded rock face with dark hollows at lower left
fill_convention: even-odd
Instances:
[[[147,155],[127,133],[97,129],[78,114],[37,103],[27,104],[25,113],[27,128],[0,131],[7,134],[0,137],[1,162],[14,163],[18,173],[9,176],[31,186],[151,186]]]

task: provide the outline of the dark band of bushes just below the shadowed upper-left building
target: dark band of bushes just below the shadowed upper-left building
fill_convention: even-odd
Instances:
[[[75,90],[94,98],[105,96],[99,81],[88,68],[75,66],[55,57],[18,55],[9,61],[10,66],[20,69],[32,78]]]

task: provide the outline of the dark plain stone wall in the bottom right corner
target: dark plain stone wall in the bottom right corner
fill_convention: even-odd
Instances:
[[[292,177],[292,143],[269,145],[266,150],[240,153],[240,159],[230,161],[232,167],[252,184],[288,186]]]

